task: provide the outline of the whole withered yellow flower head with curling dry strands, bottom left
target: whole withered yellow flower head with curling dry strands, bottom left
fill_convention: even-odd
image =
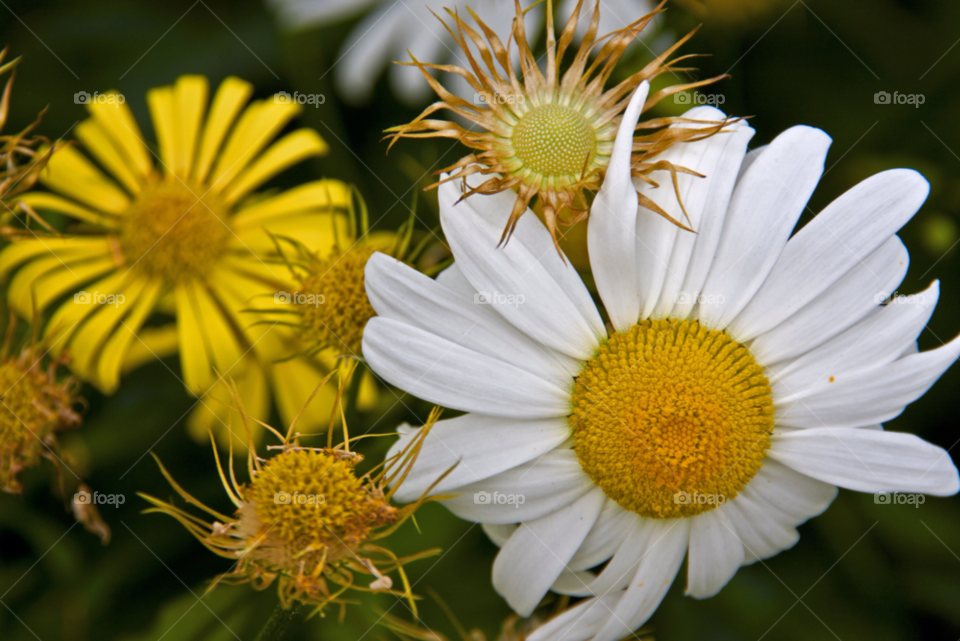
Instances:
[[[343,389],[341,384],[338,397]],[[246,424],[249,419],[235,392],[234,398]],[[431,415],[428,424],[435,423],[438,416],[438,412]],[[218,581],[252,583],[257,589],[276,581],[284,607],[299,601],[321,612],[331,603],[346,603],[342,595],[348,590],[358,590],[406,597],[415,609],[403,566],[438,550],[397,557],[377,541],[399,528],[424,502],[434,500],[422,498],[400,508],[390,505],[395,491],[390,486],[402,483],[423,439],[359,475],[356,466],[363,457],[350,450],[346,428],[343,442],[335,447],[332,430],[327,447],[306,447],[300,444],[294,424],[285,435],[266,428],[280,440],[280,445],[268,449],[279,453],[260,458],[251,443],[248,483],[236,481],[232,448],[229,474],[220,468],[217,458],[220,478],[236,506],[233,517],[193,498],[176,484],[159,459],[161,471],[177,493],[216,520],[208,523],[171,503],[141,494],[153,505],[147,512],[173,516],[207,549],[234,560],[231,571]],[[402,580],[402,591],[393,589],[389,574],[394,571]],[[358,574],[369,578],[361,582]]]

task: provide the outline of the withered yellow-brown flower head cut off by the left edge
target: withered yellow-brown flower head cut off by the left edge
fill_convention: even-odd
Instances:
[[[48,459],[59,470],[57,433],[80,426],[76,379],[58,379],[62,360],[44,367],[44,351],[24,347],[8,356],[10,336],[0,355],[0,489],[20,493],[17,475]]]

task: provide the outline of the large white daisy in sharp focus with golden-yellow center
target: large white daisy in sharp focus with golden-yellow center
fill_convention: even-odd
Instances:
[[[379,314],[367,361],[468,412],[434,426],[396,497],[415,500],[456,464],[433,491],[457,494],[447,507],[502,546],[493,583],[517,613],[550,589],[590,597],[532,641],[631,633],[684,557],[687,594],[716,594],[741,565],[794,545],[838,486],[960,489],[947,452],[880,425],[960,348],[917,352],[936,282],[880,304],[906,274],[896,233],[927,182],[905,169],[868,178],[791,237],[830,138],[794,127],[747,153],[754,132],[741,121],[666,152],[706,176],[678,177],[699,233],[685,232],[637,206],[630,142],[647,89],[624,115],[589,221],[609,327],[535,216],[497,249],[509,193],[458,202],[458,186],[441,186],[456,264],[436,281],[383,255],[366,268]],[[680,219],[673,190],[668,176],[652,197]],[[403,428],[391,452],[416,433]]]

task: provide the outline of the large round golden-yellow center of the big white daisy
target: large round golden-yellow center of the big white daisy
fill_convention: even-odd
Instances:
[[[574,451],[604,493],[648,518],[734,499],[770,447],[763,368],[725,332],[644,320],[614,334],[576,379]]]

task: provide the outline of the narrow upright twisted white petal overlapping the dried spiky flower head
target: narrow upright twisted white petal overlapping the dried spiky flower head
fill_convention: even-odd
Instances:
[[[613,143],[610,165],[590,208],[587,248],[597,292],[617,331],[640,318],[637,295],[637,190],[633,169],[633,133],[650,83],[643,81],[630,99]]]

